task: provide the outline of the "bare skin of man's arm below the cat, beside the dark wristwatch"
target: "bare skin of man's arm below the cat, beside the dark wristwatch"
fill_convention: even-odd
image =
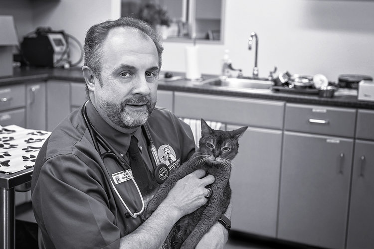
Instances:
[[[201,238],[195,249],[223,249],[228,240],[228,231],[216,222]]]

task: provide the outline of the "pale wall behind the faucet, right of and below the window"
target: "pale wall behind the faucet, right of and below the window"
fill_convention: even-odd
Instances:
[[[369,0],[226,0],[224,44],[199,44],[202,73],[219,74],[224,49],[235,68],[251,75],[251,32],[259,37],[260,76],[279,72],[374,77],[374,1]],[[185,71],[187,43],[165,42],[163,70]]]

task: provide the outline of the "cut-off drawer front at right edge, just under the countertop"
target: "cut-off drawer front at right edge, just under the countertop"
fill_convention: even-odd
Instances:
[[[359,110],[357,112],[356,136],[374,140],[374,111]]]

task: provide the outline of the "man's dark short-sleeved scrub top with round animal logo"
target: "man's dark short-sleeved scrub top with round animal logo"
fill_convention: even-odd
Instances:
[[[105,140],[128,160],[130,134],[107,124],[91,102],[87,105],[87,116]],[[173,113],[155,108],[148,123],[159,159],[170,169],[192,155],[195,148],[192,132]],[[142,158],[153,172],[152,157],[148,155],[141,128],[135,131],[135,136],[142,147]],[[112,160],[104,160],[105,166],[95,150],[81,108],[53,130],[37,156],[31,181],[39,249],[118,249],[120,238],[141,225],[140,217],[125,217],[127,211],[111,181],[130,209],[139,211],[141,202],[134,184],[124,177],[118,178],[124,176],[123,168]]]

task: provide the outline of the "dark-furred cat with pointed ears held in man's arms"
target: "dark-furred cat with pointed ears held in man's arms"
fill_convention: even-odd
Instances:
[[[201,119],[199,149],[177,168],[160,186],[154,198],[148,203],[148,218],[166,198],[179,179],[197,170],[204,169],[214,176],[213,190],[208,202],[191,214],[182,217],[173,227],[168,239],[172,248],[194,248],[202,236],[217,222],[230,202],[229,178],[231,160],[238,151],[238,138],[247,127],[232,131],[214,130]],[[227,150],[227,151],[226,151]]]

